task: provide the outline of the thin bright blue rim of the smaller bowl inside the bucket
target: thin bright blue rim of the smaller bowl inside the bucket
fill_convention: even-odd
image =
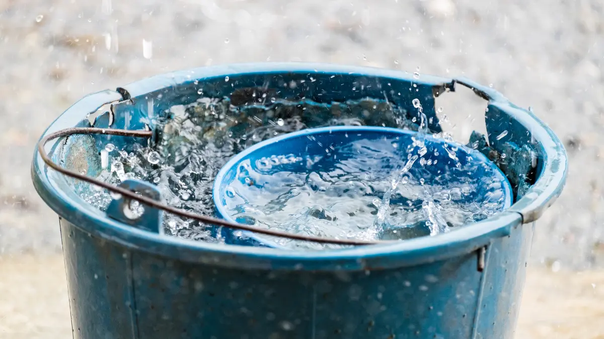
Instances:
[[[239,153],[235,154],[233,157],[231,157],[231,159],[228,160],[228,162],[226,162],[222,166],[222,168],[220,168],[220,170],[218,171],[218,174],[216,174],[216,178],[214,179],[214,184],[213,184],[213,188],[212,188],[212,198],[214,200],[214,206],[216,206],[216,212],[219,215],[219,217],[223,218],[227,221],[231,221],[232,223],[237,222],[236,220],[233,219],[233,217],[231,217],[230,213],[226,210],[226,206],[222,203],[217,203],[217,201],[222,201],[220,196],[221,196],[221,191],[223,189],[223,185],[225,185],[224,181],[225,181],[226,174],[229,171],[231,171],[234,166],[237,166],[244,158],[248,157],[250,154],[254,153],[255,151],[261,150],[262,148],[264,148],[268,145],[274,144],[275,142],[285,142],[285,141],[288,141],[288,139],[299,138],[300,136],[310,136],[310,135],[316,135],[316,134],[321,134],[321,133],[326,133],[326,132],[331,133],[332,131],[349,131],[350,133],[355,133],[355,132],[359,132],[359,131],[373,131],[373,132],[384,132],[384,133],[388,133],[388,134],[397,134],[397,135],[414,135],[416,133],[416,132],[410,131],[410,130],[401,130],[399,128],[381,127],[381,126],[326,126],[326,127],[306,128],[304,130],[295,131],[292,133],[286,133],[284,135],[275,136],[274,138],[266,139],[265,141],[252,145],[251,147],[248,147],[245,150],[240,151]],[[484,156],[484,154],[480,153],[477,150],[473,150],[472,148],[468,148],[462,144],[457,144],[457,143],[445,141],[444,139],[435,138],[433,135],[426,135],[425,137],[426,137],[426,139],[431,139],[432,142],[436,142],[438,144],[449,144],[449,145],[454,145],[455,147],[463,148],[467,154],[472,154],[472,156],[480,159],[481,162],[487,163],[490,166],[490,168],[495,170],[495,173],[496,173],[495,175],[498,177],[498,179],[500,179],[500,181],[503,184],[502,188],[503,188],[503,191],[505,194],[505,201],[503,203],[502,210],[498,213],[501,213],[501,212],[505,211],[506,209],[509,209],[510,206],[512,206],[512,185],[510,184],[509,180],[507,180],[507,177],[500,170],[500,168],[497,167],[495,165],[495,163],[490,161],[486,156]],[[471,224],[474,224],[474,223],[471,223]],[[470,224],[467,224],[466,226],[460,226],[460,227],[468,227],[469,225]],[[255,239],[256,241],[262,242],[263,244],[265,244],[269,247],[273,247],[275,249],[291,250],[288,247],[277,244],[277,242],[275,242],[275,241],[271,241],[269,238],[267,238],[266,236],[264,236],[262,234],[254,233],[254,232],[250,232],[250,231],[243,231],[243,234],[249,238]]]

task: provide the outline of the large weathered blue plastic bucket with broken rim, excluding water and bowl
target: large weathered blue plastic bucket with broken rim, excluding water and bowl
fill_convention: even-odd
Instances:
[[[158,112],[194,102],[198,91],[245,99],[256,89],[326,104],[387,97],[409,110],[419,97],[428,127],[439,131],[434,97],[456,83],[489,101],[488,146],[519,154],[502,166],[515,203],[467,227],[395,244],[304,252],[165,236],[85,203],[77,182],[36,154],[34,185],[60,217],[74,338],[513,338],[535,221],[560,194],[567,157],[543,122],[489,87],[321,64],[199,68],[89,95],[45,135],[91,120],[101,128],[153,129]],[[93,119],[94,112],[102,114]],[[98,149],[108,140],[71,136],[45,151],[94,176]]]

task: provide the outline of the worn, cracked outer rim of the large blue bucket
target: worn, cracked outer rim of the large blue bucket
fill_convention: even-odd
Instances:
[[[74,201],[57,188],[49,177],[49,170],[39,154],[35,153],[31,174],[34,187],[40,197],[60,217],[91,235],[117,242],[131,250],[140,250],[159,256],[187,262],[219,265],[234,268],[260,268],[283,270],[379,270],[389,267],[403,267],[463,255],[486,246],[493,238],[507,236],[512,227],[536,220],[561,193],[564,186],[568,163],[564,146],[540,119],[532,112],[511,104],[503,95],[490,87],[481,86],[465,78],[441,78],[422,75],[420,80],[411,74],[388,69],[359,66],[341,66],[321,63],[251,63],[229,66],[213,66],[177,71],[137,81],[127,86],[129,96],[138,96],[162,89],[178,86],[194,80],[208,80],[233,74],[307,72],[323,74],[351,74],[368,77],[383,77],[391,81],[413,81],[425,85],[450,86],[455,83],[470,87],[478,95],[518,119],[532,131],[536,141],[544,148],[544,166],[541,177],[511,208],[487,220],[451,232],[420,237],[392,245],[355,247],[330,251],[283,251],[263,247],[226,246],[207,242],[159,235],[111,220],[83,200]],[[123,93],[123,92],[122,92]],[[43,133],[46,136],[56,130],[74,127],[86,116],[104,104],[124,100],[118,92],[104,90],[88,95],[77,101],[60,115]],[[43,138],[42,136],[42,138]],[[49,142],[50,151],[56,142]]]

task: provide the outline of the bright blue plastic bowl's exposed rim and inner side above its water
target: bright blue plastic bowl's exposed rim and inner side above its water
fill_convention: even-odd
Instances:
[[[444,139],[429,135],[422,136],[422,138],[426,147],[424,160],[430,163],[429,166],[423,167],[423,170],[427,171],[426,174],[429,174],[430,177],[452,173],[452,169],[457,168],[457,166],[465,166],[471,162],[475,171],[470,174],[463,173],[465,177],[491,177],[493,182],[499,184],[499,188],[490,191],[487,182],[482,181],[483,184],[476,186],[475,192],[472,192],[465,199],[482,201],[487,192],[490,192],[493,195],[491,200],[495,201],[501,198],[503,201],[500,204],[500,211],[512,205],[512,186],[495,163],[491,162],[484,154],[463,145],[446,142]],[[331,150],[350,145],[352,142],[375,142],[382,139],[396,142],[398,149],[406,150],[413,147],[413,143],[419,139],[419,136],[414,131],[390,127],[330,126],[307,128],[259,142],[233,156],[217,174],[213,188],[217,215],[229,221],[245,223],[247,221],[245,217],[236,218],[236,215],[242,215],[242,206],[246,205],[245,201],[262,197],[265,195],[265,189],[275,189],[273,187],[275,185],[271,184],[275,181],[272,178],[275,172],[286,171],[286,173],[307,174],[309,160],[312,162],[316,157],[320,157],[323,160],[320,167],[326,165],[329,167],[328,163],[330,161],[337,160],[333,159],[334,154],[329,153]],[[289,161],[288,159],[297,160]],[[328,169],[322,168],[322,170]],[[370,172],[371,170],[368,169],[367,171]],[[259,177],[250,179],[248,175],[250,172]],[[387,176],[388,179],[392,179],[393,176],[396,176],[396,173],[389,173]],[[246,179],[253,183],[246,183]],[[382,178],[382,180],[385,179]],[[431,183],[426,182],[426,185],[431,185]],[[227,192],[230,192],[233,196],[229,197]],[[499,194],[501,194],[501,197]],[[484,203],[486,202],[486,199],[484,199]],[[421,233],[422,231],[409,232]],[[257,246],[287,248],[274,239],[253,232],[239,232],[242,233],[239,236],[235,236],[232,234],[233,232],[237,231],[223,229],[223,233],[226,233],[225,238],[232,239],[236,243],[243,242],[241,239],[243,238],[246,242],[253,242]]]

